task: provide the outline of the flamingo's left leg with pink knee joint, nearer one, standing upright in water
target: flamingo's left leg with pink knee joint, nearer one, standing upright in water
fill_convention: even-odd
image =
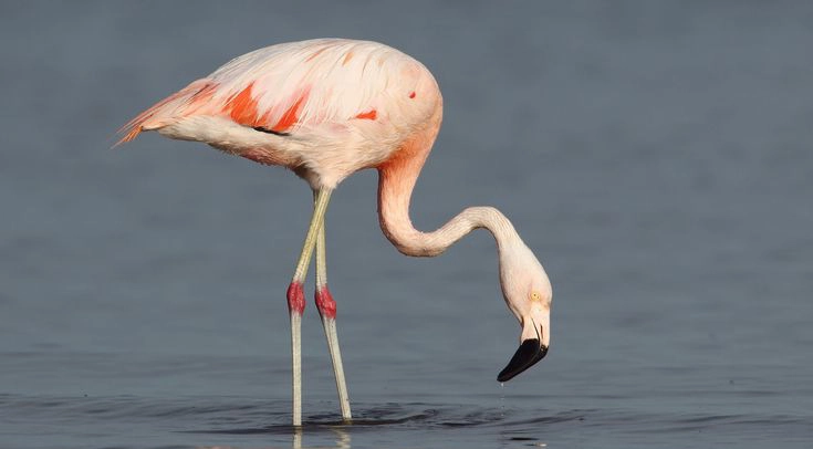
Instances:
[[[305,295],[302,284],[305,281],[311,254],[316,244],[319,230],[322,227],[327,202],[331,199],[330,189],[316,191],[311,224],[308,227],[305,241],[302,244],[296,270],[293,273],[291,285],[288,288],[288,311],[291,317],[291,374],[293,378],[293,425],[302,426],[302,312],[305,310]]]

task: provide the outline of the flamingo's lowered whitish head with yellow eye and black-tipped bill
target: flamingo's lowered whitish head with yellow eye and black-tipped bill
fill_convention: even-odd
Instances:
[[[522,326],[520,347],[497,376],[497,380],[507,382],[548,354],[553,291],[542,264],[522,242],[501,251],[500,285],[508,309]]]

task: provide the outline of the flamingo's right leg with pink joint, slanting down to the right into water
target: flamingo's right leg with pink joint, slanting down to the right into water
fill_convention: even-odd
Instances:
[[[347,394],[347,384],[344,380],[344,367],[342,366],[342,352],[338,348],[338,334],[336,333],[336,302],[333,300],[331,291],[327,289],[327,263],[325,261],[325,237],[324,237],[324,218],[322,227],[319,229],[316,237],[316,309],[322,317],[322,327],[324,327],[325,337],[327,337],[327,348],[331,352],[331,361],[333,362],[333,374],[336,378],[336,390],[338,391],[338,405],[342,408],[342,419],[348,422],[352,419],[350,411],[350,395]]]

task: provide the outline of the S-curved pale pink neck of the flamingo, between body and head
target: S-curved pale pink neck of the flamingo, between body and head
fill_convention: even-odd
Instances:
[[[497,240],[498,250],[521,243],[511,222],[492,207],[470,207],[432,232],[421,232],[409,219],[413,188],[431,148],[418,139],[395,158],[378,167],[378,219],[387,239],[406,255],[435,257],[475,229],[486,228]]]

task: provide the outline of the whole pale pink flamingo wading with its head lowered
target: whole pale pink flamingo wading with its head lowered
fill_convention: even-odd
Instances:
[[[378,170],[382,231],[406,255],[435,257],[470,231],[497,241],[502,295],[522,328],[520,346],[497,379],[534,365],[550,345],[551,283],[511,221],[492,207],[470,207],[431,232],[409,219],[409,199],[442,118],[435,77],[415,59],[368,41],[316,39],[282,43],[236,58],[140,113],[116,144],[144,130],[195,140],[259,164],[283,166],[313,190],[313,215],[288,288],[292,418],[302,424],[303,283],[315,249],[315,303],[336,379],[342,418],[352,419],[327,289],[324,216],[331,194],[350,175]]]

